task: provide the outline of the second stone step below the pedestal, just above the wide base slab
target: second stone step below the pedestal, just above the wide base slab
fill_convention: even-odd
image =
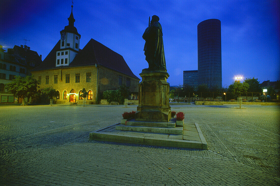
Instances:
[[[143,127],[143,126],[132,126],[132,125],[118,125],[118,126],[116,126],[116,130],[183,135],[183,127],[176,127],[176,128],[165,127],[165,128],[163,128],[163,127]]]

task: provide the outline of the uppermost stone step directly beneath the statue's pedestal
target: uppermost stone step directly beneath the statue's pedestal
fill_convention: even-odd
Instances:
[[[126,125],[143,126],[143,127],[162,127],[162,128],[172,127],[172,128],[175,128],[176,118],[171,118],[169,120],[169,122],[135,121],[135,119],[132,119],[132,120],[126,121]]]

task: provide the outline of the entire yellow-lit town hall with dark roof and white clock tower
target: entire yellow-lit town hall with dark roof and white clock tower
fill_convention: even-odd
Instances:
[[[69,24],[60,31],[56,43],[41,65],[31,73],[40,89],[52,87],[59,96],[55,101],[78,102],[81,90],[88,92],[87,103],[95,103],[97,94],[125,85],[130,99],[138,99],[139,78],[130,70],[120,54],[94,39],[80,49],[81,35],[74,27],[73,5]]]

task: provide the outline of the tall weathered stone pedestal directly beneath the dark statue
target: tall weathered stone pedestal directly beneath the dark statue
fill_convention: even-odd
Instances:
[[[135,121],[168,122],[171,118],[169,106],[169,74],[166,70],[142,71],[139,74],[139,105]]]

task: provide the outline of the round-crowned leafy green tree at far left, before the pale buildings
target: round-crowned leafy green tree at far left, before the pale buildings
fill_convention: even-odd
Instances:
[[[15,80],[5,85],[9,93],[22,99],[25,97],[35,97],[37,95],[37,87],[38,81],[33,76],[15,76]]]

